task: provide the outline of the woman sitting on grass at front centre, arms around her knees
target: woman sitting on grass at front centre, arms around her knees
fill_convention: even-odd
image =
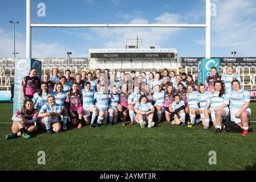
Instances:
[[[134,110],[136,112],[136,122],[140,123],[141,128],[145,128],[146,120],[148,121],[148,127],[155,125],[155,122],[153,122],[155,108],[150,102],[147,102],[146,96],[140,96],[139,103],[135,104]]]

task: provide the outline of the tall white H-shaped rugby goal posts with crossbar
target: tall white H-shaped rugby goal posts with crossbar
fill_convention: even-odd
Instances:
[[[206,1],[206,24],[31,24],[31,0],[26,0],[26,58],[31,58],[31,28],[32,27],[202,27],[206,28],[205,38],[205,58],[210,59],[210,16],[211,16],[211,1]]]

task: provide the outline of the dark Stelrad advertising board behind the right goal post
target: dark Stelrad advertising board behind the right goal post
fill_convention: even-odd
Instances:
[[[256,57],[212,57],[220,59],[221,67],[233,65],[234,67],[256,67]],[[197,61],[204,57],[181,57],[182,68],[197,67]]]

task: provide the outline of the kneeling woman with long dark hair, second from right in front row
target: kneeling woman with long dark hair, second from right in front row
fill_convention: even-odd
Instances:
[[[214,82],[214,91],[210,94],[205,106],[205,119],[209,119],[211,114],[212,122],[216,130],[214,133],[221,133],[224,125],[222,119],[225,119],[229,114],[229,99],[225,94],[224,82],[218,80]],[[209,109],[210,107],[210,109]]]

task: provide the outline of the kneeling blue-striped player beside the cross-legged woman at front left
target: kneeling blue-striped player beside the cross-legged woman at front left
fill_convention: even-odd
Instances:
[[[40,109],[38,117],[42,117],[42,126],[46,128],[47,133],[52,134],[62,130],[62,125],[59,122],[62,107],[56,105],[54,96],[49,95],[47,101],[48,103]]]

